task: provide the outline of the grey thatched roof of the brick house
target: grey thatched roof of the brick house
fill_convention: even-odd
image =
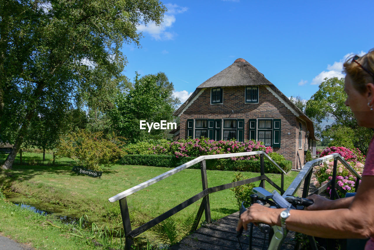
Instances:
[[[313,122],[307,117],[303,111],[301,111],[291,100],[288,99],[277,87],[274,86],[268,79],[265,78],[263,73],[260,73],[254,66],[252,66],[248,61],[243,58],[238,58],[226,69],[222,70],[220,73],[212,76],[199,86],[191,94],[190,97],[184,102],[173,115],[178,116],[186,108],[188,103],[190,103],[194,97],[199,94],[199,92],[204,88],[214,88],[214,87],[233,87],[233,86],[250,86],[250,85],[265,85],[269,86],[273,92],[278,94],[281,98],[282,103],[286,103],[290,108],[292,108],[298,116],[306,121],[307,129],[310,132],[310,138],[316,139],[314,135]]]

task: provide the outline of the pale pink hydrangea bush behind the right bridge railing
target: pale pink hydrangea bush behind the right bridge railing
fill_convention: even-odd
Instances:
[[[351,162],[350,165],[352,168],[359,174],[362,174],[362,170],[364,169],[364,164],[361,162]],[[334,160],[329,162],[324,162],[318,167],[315,167],[317,171],[315,172],[316,177],[312,178],[313,184],[319,188],[322,185],[328,183],[332,180],[332,170],[334,166]],[[357,178],[354,177],[348,169],[346,169],[341,163],[338,162],[337,165],[337,177],[336,183],[344,190],[349,193],[355,192],[355,184]],[[361,180],[359,181],[361,183]],[[327,192],[331,194],[331,187],[327,188]],[[342,193],[338,191],[340,196],[343,196]]]

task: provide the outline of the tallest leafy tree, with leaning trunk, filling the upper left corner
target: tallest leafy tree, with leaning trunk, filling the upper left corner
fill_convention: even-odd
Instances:
[[[126,64],[123,43],[139,45],[139,23],[160,24],[159,0],[0,1],[1,139],[14,142],[12,167],[43,99],[71,109],[81,93],[107,90]],[[10,131],[9,131],[10,130]]]

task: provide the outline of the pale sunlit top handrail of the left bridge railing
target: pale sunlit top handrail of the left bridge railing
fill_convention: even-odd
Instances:
[[[273,165],[275,166],[276,169],[278,169],[279,172],[282,172],[283,174],[286,174],[286,172],[280,167],[278,166],[277,163],[275,163],[273,161],[273,159],[271,159],[264,151],[252,151],[252,152],[242,152],[242,153],[232,153],[232,154],[213,154],[213,155],[208,155],[208,156],[199,156],[193,160],[190,160],[189,162],[186,162],[176,168],[173,168],[163,174],[160,174],[148,181],[145,181],[143,183],[140,183],[139,185],[135,186],[135,187],[132,187],[128,190],[125,190],[117,195],[114,195],[112,196],[111,198],[109,198],[108,200],[110,202],[115,202],[115,201],[118,201],[122,198],[125,198],[126,196],[129,196],[135,192],[138,192],[139,190],[141,189],[144,189],[145,187],[149,187],[151,186],[152,184],[156,183],[156,182],[159,182],[171,175],[174,175],[174,174],[177,174],[178,172],[182,171],[183,169],[186,169],[196,163],[199,163],[203,160],[208,160],[208,159],[220,159],[220,158],[228,158],[228,157],[239,157],[239,156],[250,156],[250,155],[255,155],[255,154],[263,154],[264,157]]]

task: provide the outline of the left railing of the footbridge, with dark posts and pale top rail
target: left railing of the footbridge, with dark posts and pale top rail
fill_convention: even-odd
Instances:
[[[219,159],[219,158],[228,158],[228,157],[240,157],[240,156],[251,156],[251,155],[260,155],[260,176],[249,178],[242,181],[236,181],[233,183],[227,183],[220,186],[215,187],[209,187],[208,188],[208,181],[207,181],[207,175],[206,175],[206,160],[209,159]],[[281,173],[281,187],[279,187],[277,184],[275,184],[272,180],[269,179],[265,175],[265,166],[264,166],[264,158],[267,159],[270,164],[272,164],[278,171]],[[143,225],[139,226],[136,229],[131,228],[131,220],[129,216],[129,208],[127,205],[127,199],[126,197],[138,192],[141,189],[144,189],[145,187],[149,187],[154,183],[157,183],[171,175],[174,175],[196,163],[200,163],[200,169],[201,169],[201,180],[202,180],[202,192],[192,196],[191,198],[187,199],[186,201],[182,202],[181,204],[175,206],[174,208],[166,211],[165,213],[161,214],[160,216],[157,216],[156,218],[150,220],[147,223],[144,223]],[[183,210],[184,208],[188,207],[189,205],[193,204],[196,201],[199,201],[199,199],[203,198],[199,210],[197,211],[193,226],[191,228],[191,232],[195,231],[197,229],[197,226],[199,225],[200,219],[202,217],[203,212],[205,211],[205,220],[208,223],[211,223],[211,211],[210,211],[210,204],[209,204],[209,194],[230,189],[233,187],[241,186],[248,183],[253,183],[255,181],[260,181],[260,187],[265,187],[265,181],[270,183],[273,187],[275,187],[281,194],[283,194],[285,191],[284,189],[284,174],[286,172],[276,163],[274,160],[272,160],[264,151],[253,151],[253,152],[243,152],[243,153],[233,153],[233,154],[216,154],[216,155],[208,155],[208,156],[199,156],[187,163],[184,163],[183,165],[180,165],[176,168],[173,168],[163,174],[160,174],[148,181],[145,181],[137,186],[134,186],[128,190],[125,190],[111,198],[109,198],[110,202],[116,202],[119,201],[120,210],[121,210],[121,216],[122,216],[122,223],[123,223],[123,229],[125,231],[125,238],[126,238],[126,249],[131,249],[132,244],[134,244],[134,237],[141,234],[142,232],[147,231],[148,229],[152,228],[153,226],[157,225],[158,223],[162,222],[163,220],[168,219],[172,215],[178,213],[179,211]]]

